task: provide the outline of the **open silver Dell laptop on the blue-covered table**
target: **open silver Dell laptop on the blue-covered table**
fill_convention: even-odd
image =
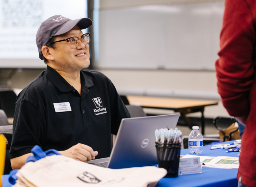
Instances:
[[[174,129],[180,114],[122,119],[110,157],[89,164],[121,169],[157,164],[155,130]]]

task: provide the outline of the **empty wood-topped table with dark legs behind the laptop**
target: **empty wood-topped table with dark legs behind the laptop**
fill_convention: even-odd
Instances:
[[[126,96],[131,105],[139,105],[143,108],[168,109],[179,112],[185,119],[188,126],[192,129],[192,123],[186,114],[201,112],[202,134],[204,134],[204,107],[217,105],[217,101],[208,100],[192,100],[192,99],[176,99],[176,98],[160,98],[160,97],[144,97],[144,96]]]

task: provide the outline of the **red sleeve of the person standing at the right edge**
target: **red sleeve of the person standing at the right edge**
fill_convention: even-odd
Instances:
[[[243,0],[226,0],[215,63],[218,93],[231,116],[249,114],[249,91],[254,78],[255,23]]]

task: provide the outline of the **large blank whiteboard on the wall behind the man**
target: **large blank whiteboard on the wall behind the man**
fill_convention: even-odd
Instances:
[[[95,65],[214,70],[223,12],[224,2],[100,10]]]

